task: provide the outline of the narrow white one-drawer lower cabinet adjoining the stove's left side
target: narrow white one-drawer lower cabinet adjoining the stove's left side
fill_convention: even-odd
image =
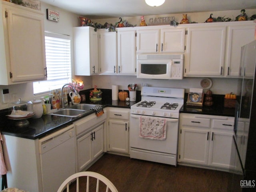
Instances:
[[[130,109],[108,108],[108,151],[129,153]]]

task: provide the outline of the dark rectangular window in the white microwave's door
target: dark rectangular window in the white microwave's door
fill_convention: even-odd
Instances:
[[[162,75],[166,74],[166,64],[141,64],[141,73],[149,75]]]

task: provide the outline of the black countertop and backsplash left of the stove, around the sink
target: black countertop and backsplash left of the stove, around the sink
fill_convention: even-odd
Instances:
[[[102,92],[103,92],[102,101],[99,101],[99,102],[90,102],[88,90],[81,91],[80,93],[86,94],[86,102],[84,103],[99,104],[99,105],[102,105],[103,108],[107,106],[130,108],[130,106],[136,103],[136,102],[112,100],[111,90],[102,90]],[[140,92],[138,92],[137,94],[138,94],[138,97],[137,97],[138,101],[140,101]],[[52,132],[55,132],[65,126],[72,124],[72,122],[80,118],[83,118],[85,116],[88,116],[94,113],[94,111],[91,111],[77,118],[46,114],[46,115],[43,115],[41,118],[37,118],[37,119],[29,118],[28,126],[19,127],[15,125],[16,120],[10,120],[6,117],[6,115],[10,114],[11,111],[12,111],[12,108],[0,110],[0,121],[2,122],[0,126],[1,133],[6,135],[11,135],[11,136],[17,136],[21,138],[33,139],[33,140],[37,138],[42,138],[48,134],[51,134]]]

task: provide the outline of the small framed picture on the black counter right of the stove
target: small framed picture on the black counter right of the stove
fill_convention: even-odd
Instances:
[[[188,93],[187,105],[202,106],[203,98],[203,89],[190,88]]]

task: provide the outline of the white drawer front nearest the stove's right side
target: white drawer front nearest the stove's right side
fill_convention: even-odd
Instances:
[[[208,118],[182,118],[182,126],[210,128],[210,119]]]

